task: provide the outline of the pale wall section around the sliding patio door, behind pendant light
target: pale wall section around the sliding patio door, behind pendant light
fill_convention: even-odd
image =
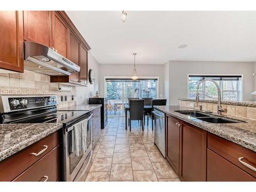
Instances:
[[[140,77],[159,77],[159,98],[164,98],[164,66],[136,65]],[[130,76],[133,65],[99,64],[99,95],[104,96],[104,76]]]

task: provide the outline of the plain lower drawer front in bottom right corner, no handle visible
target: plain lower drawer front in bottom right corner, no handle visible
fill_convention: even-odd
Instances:
[[[256,179],[207,149],[207,181],[256,181]]]

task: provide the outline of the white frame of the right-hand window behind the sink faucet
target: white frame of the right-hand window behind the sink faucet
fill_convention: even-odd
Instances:
[[[243,95],[244,95],[244,75],[243,74],[187,74],[187,98],[189,98],[188,94],[189,94],[189,88],[188,88],[188,81],[189,81],[189,76],[192,76],[192,75],[195,75],[195,76],[241,76],[241,94],[239,93],[238,91],[238,88],[239,88],[239,83],[237,83],[237,90],[234,90],[233,92],[237,92],[238,94],[238,101],[242,101],[243,100]],[[223,83],[223,81],[222,81]],[[221,83],[221,86],[222,86],[222,83]],[[203,89],[204,89],[204,86],[203,86]],[[205,91],[205,90],[203,90]],[[223,95],[223,91],[230,91],[230,90],[222,90],[221,89],[221,95]],[[205,99],[205,96],[203,96],[203,99]]]

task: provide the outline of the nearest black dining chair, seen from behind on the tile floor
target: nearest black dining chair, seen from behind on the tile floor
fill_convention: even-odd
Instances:
[[[142,131],[144,130],[143,121],[144,112],[144,99],[131,99],[130,100],[130,111],[128,113],[128,125],[130,126],[130,131],[132,129],[132,120],[140,120],[140,125],[142,126]]]

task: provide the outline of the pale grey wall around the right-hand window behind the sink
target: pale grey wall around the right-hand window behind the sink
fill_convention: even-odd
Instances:
[[[169,61],[169,104],[187,97],[187,74],[243,74],[243,100],[253,100],[255,66],[254,62]]]

